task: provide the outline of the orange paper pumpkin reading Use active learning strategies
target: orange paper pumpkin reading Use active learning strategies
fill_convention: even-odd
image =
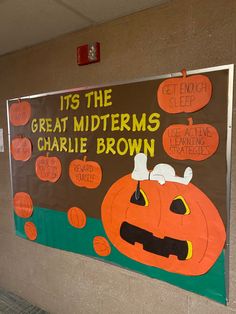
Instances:
[[[165,152],[177,160],[201,161],[211,157],[219,145],[219,134],[210,124],[173,124],[163,133]]]

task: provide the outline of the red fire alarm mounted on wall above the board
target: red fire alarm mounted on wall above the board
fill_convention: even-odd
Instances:
[[[77,48],[77,63],[85,65],[100,61],[100,43],[90,43]]]

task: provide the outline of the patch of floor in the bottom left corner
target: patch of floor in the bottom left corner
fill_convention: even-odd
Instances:
[[[24,299],[0,289],[0,313],[8,314],[47,314]]]

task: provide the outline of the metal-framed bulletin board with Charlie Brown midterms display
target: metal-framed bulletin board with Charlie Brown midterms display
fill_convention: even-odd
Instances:
[[[17,236],[228,296],[233,65],[7,102]]]

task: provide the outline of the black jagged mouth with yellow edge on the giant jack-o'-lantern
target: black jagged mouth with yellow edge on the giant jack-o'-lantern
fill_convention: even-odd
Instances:
[[[192,242],[170,237],[163,239],[155,237],[150,231],[134,226],[124,221],[120,227],[121,238],[129,244],[140,243],[143,250],[149,253],[168,258],[175,255],[179,260],[188,260],[192,257]]]

